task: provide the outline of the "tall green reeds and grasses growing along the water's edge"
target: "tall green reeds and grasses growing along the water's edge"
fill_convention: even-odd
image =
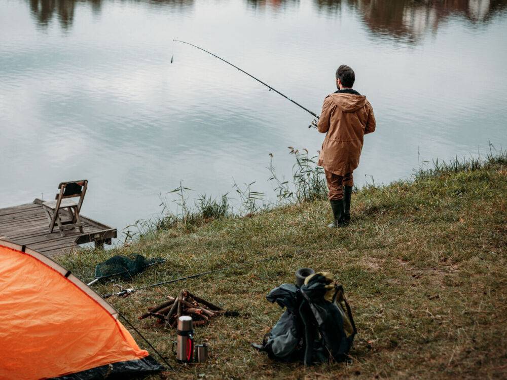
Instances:
[[[134,225],[128,226],[125,235],[125,241],[132,240],[135,236],[142,236],[149,232],[160,229],[170,229],[173,227],[192,228],[209,220],[227,218],[234,216],[249,216],[268,210],[277,205],[301,203],[325,199],[328,194],[327,183],[325,181],[323,168],[317,166],[317,157],[310,156],[307,149],[301,151],[293,147],[288,147],[295,163],[292,169],[292,180],[287,181],[276,174],[273,165],[273,155],[270,153],[270,161],[267,169],[270,172],[268,181],[271,181],[276,194],[276,202],[272,203],[265,199],[266,194],[253,190],[255,182],[238,185],[233,184],[235,193],[239,195],[239,207],[235,212],[231,204],[232,198],[229,193],[223,194],[217,198],[202,193],[191,204],[189,193],[192,189],[179,186],[169,191],[167,194],[175,194],[176,199],[171,202],[176,206],[171,207],[165,196],[160,195],[162,213],[155,220],[140,220]],[[474,171],[484,166],[506,164],[507,151],[500,149],[497,151],[490,143],[489,153],[485,159],[481,158],[463,158],[458,157],[445,162],[438,159],[431,162],[430,167],[421,167],[414,173],[413,180],[444,175],[447,172]],[[377,184],[372,179],[372,183],[367,183],[366,188],[376,188]],[[357,188],[354,188],[357,191]],[[137,232],[131,228],[137,227]]]

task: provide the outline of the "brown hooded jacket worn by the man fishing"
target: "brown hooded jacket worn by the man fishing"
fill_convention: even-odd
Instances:
[[[351,173],[359,165],[363,137],[375,130],[370,102],[356,93],[335,92],[325,97],[318,120],[318,131],[327,132],[318,165],[338,176]]]

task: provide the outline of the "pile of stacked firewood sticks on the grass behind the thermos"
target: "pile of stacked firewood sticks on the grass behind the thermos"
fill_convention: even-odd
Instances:
[[[182,290],[176,298],[167,296],[169,300],[158,306],[148,308],[139,319],[154,317],[159,325],[176,328],[178,318],[181,316],[190,316],[193,320],[193,326],[203,326],[209,322],[210,318],[225,314],[225,310],[212,304],[188,290]]]

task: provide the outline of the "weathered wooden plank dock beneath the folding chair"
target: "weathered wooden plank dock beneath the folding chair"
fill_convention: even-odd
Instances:
[[[116,228],[108,227],[84,216],[83,232],[78,228],[64,231],[64,236],[55,229],[49,233],[49,219],[41,199],[32,203],[0,209],[0,238],[24,245],[48,257],[62,255],[85,243],[95,246],[111,244],[116,237]],[[62,216],[68,211],[60,210]]]

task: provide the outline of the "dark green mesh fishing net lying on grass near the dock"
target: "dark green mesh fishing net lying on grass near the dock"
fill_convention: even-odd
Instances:
[[[142,272],[147,266],[164,262],[160,257],[147,259],[142,255],[116,255],[95,267],[95,278],[121,276],[124,279],[130,279],[134,275]]]

